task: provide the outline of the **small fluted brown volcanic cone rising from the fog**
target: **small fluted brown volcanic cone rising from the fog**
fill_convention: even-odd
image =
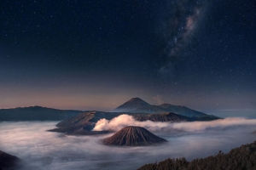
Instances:
[[[143,127],[124,127],[113,136],[103,139],[103,144],[118,146],[143,146],[166,142]]]

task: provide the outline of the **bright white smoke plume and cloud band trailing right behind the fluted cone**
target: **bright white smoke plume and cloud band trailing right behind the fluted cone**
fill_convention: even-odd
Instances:
[[[93,130],[113,130],[119,131],[123,127],[127,126],[139,126],[145,127],[152,132],[170,132],[170,131],[187,131],[198,132],[206,130],[207,128],[224,128],[234,126],[250,126],[256,125],[256,119],[245,119],[241,117],[225,118],[212,122],[138,122],[132,116],[120,115],[113,118],[111,121],[101,119],[96,122],[96,127]]]

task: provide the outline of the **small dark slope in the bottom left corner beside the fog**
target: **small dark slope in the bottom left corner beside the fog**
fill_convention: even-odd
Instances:
[[[0,150],[0,169],[11,170],[20,167],[21,160]]]

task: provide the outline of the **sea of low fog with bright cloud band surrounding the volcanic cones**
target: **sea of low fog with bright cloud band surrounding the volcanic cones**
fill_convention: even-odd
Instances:
[[[121,122],[119,119],[121,118]],[[122,122],[122,120],[124,122]],[[136,122],[131,116],[101,120],[96,129],[143,126],[168,140],[145,147],[112,147],[100,140],[113,135],[66,136],[46,130],[57,122],[0,122],[0,150],[20,157],[22,169],[136,169],[168,157],[187,160],[224,152],[256,139],[256,120],[226,118],[214,122]],[[131,124],[130,124],[131,123]]]

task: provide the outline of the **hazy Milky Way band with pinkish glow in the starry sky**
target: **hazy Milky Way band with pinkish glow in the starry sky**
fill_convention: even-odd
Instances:
[[[183,50],[193,42],[196,28],[206,8],[207,1],[174,1],[170,11],[166,13],[167,20],[163,22],[164,46],[162,57],[166,62],[161,66],[160,73],[173,76],[175,66],[183,60]]]

